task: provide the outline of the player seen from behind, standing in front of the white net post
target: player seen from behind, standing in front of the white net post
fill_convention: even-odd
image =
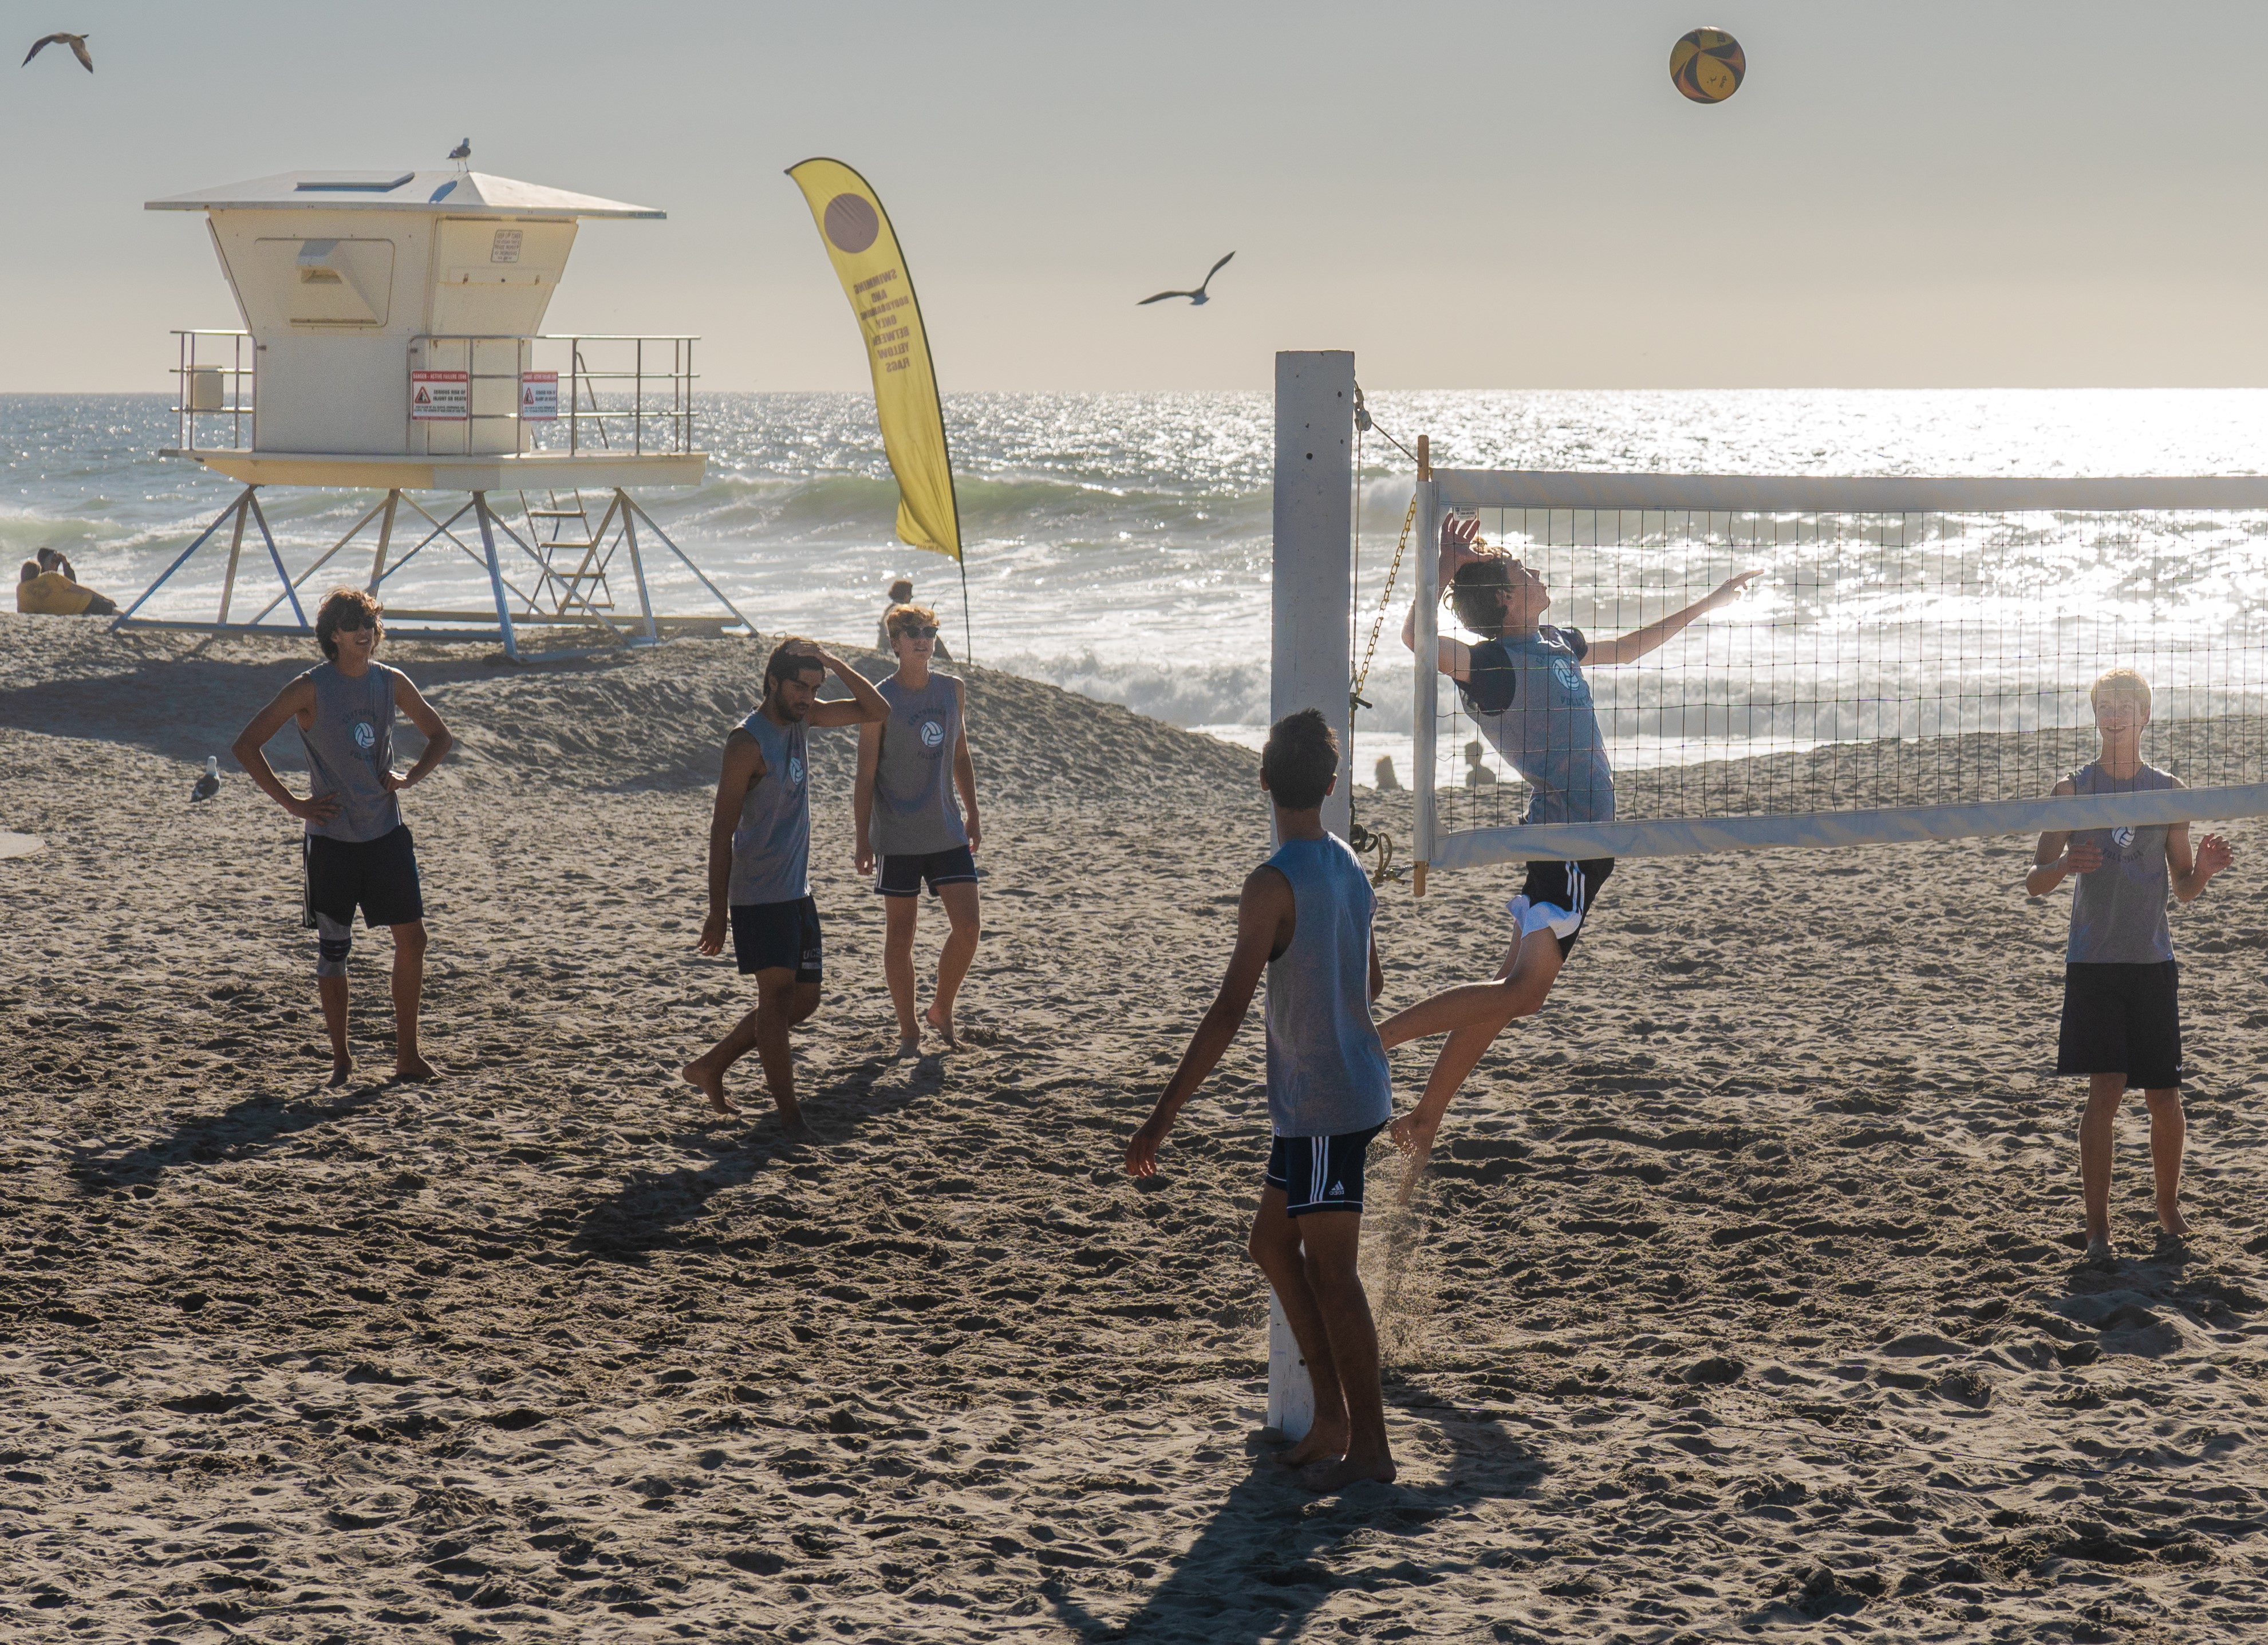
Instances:
[[[1338,737],[1318,710],[1286,715],[1268,731],[1261,787],[1275,801],[1281,844],[1245,878],[1220,994],[1127,1144],[1127,1173],[1157,1175],[1159,1144],[1229,1048],[1268,967],[1275,1141],[1250,1252],[1284,1305],[1315,1389],[1315,1425],[1279,1454],[1306,1468],[1302,1482],[1315,1491],[1395,1477],[1379,1334],[1356,1273],[1363,1155],[1395,1112],[1386,1051],[1370,1023],[1386,978],[1370,928],[1370,878],[1347,842],[1322,828],[1322,801],[1336,785]]]

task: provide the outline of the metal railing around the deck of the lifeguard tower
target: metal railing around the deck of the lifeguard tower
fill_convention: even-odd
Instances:
[[[175,331],[177,447],[245,452],[259,404],[247,331]],[[408,347],[404,454],[694,452],[699,336],[415,336]],[[426,406],[417,390],[429,390]],[[449,390],[456,393],[449,393]],[[435,411],[431,395],[440,390]],[[227,442],[213,436],[227,429]]]

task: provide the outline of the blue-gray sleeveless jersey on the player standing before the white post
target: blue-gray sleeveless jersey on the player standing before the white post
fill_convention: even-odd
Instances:
[[[1370,1021],[1370,876],[1338,835],[1286,840],[1268,867],[1297,917],[1268,962],[1268,1123],[1277,1137],[1383,1125],[1395,1096]]]

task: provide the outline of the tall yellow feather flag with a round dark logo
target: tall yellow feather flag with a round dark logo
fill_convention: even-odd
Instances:
[[[789,166],[844,281],[866,363],[882,449],[898,476],[898,538],[916,549],[962,558],[962,508],[953,495],[946,408],[937,399],[930,336],[921,329],[914,277],[905,270],[889,213],[866,179],[835,159]]]

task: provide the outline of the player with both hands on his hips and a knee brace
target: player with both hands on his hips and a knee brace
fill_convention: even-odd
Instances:
[[[331,1085],[345,1085],[354,1073],[347,1053],[347,953],[354,948],[356,908],[365,926],[386,926],[395,937],[395,1078],[435,1078],[433,1064],[417,1055],[424,887],[417,844],[401,821],[397,794],[422,783],[456,737],[408,674],[376,660],[383,638],[379,601],[361,588],[333,588],[315,613],[315,644],[324,660],[277,692],[231,749],[261,792],[306,824],[304,921],[315,928],[315,989],[331,1032]],[[426,737],[408,771],[395,769],[395,710]],[[263,753],[284,722],[299,724],[306,746],[306,799],[284,787]]]

